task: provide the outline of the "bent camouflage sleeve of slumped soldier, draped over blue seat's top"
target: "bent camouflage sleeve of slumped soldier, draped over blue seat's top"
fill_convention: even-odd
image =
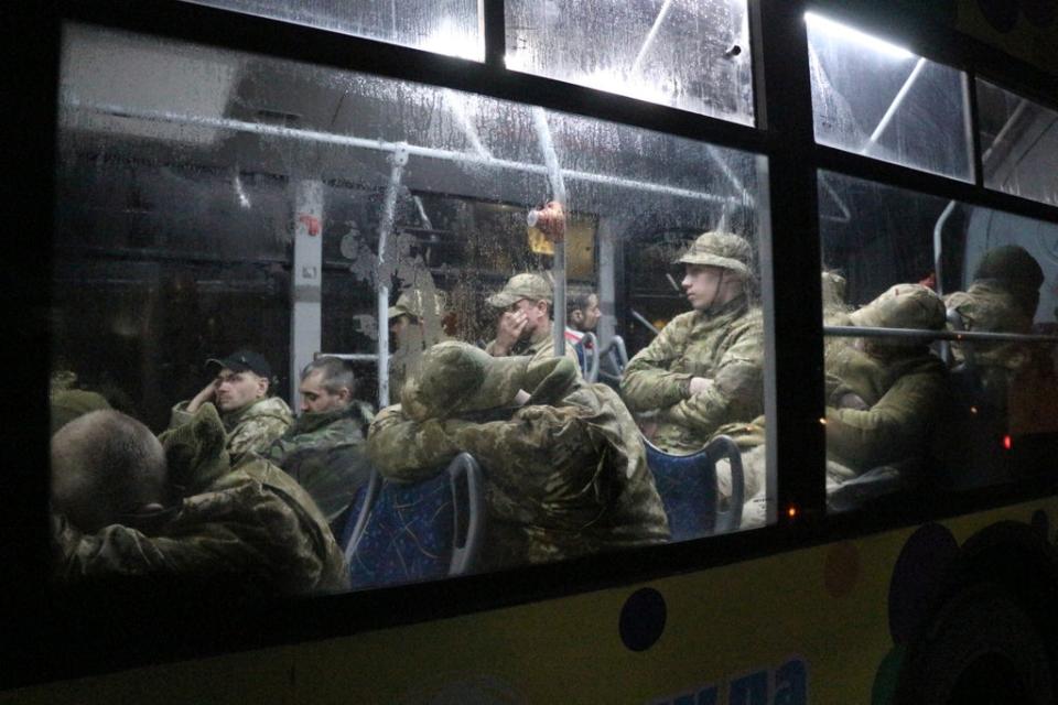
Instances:
[[[367,434],[367,455],[382,477],[414,482],[435,474],[458,448],[436,419],[412,421],[400,404],[378,412]]]

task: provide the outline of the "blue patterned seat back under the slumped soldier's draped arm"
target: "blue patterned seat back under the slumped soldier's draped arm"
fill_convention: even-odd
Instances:
[[[377,481],[376,481],[377,479]],[[461,453],[430,479],[411,485],[373,477],[349,531],[354,588],[462,575],[484,531],[484,487],[474,458]]]

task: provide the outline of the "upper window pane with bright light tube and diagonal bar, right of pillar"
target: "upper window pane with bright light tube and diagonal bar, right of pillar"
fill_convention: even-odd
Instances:
[[[806,22],[817,142],[973,180],[963,73],[818,14]]]

